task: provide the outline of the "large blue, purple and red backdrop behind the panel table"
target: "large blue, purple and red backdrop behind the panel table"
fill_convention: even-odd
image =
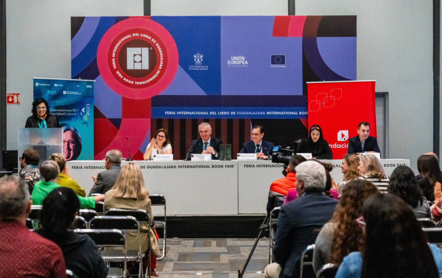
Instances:
[[[256,124],[289,145],[307,136],[306,81],[356,79],[356,16],[71,21],[72,78],[96,80],[95,159],[112,148],[127,157],[127,139],[142,159],[158,128],[184,158],[202,121],[233,154]]]

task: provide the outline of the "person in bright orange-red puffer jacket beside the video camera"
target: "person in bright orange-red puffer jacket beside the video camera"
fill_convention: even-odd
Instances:
[[[296,199],[296,172],[295,167],[306,161],[302,155],[294,155],[290,158],[289,166],[287,167],[287,175],[284,178],[274,181],[270,185],[269,198],[267,201],[267,214],[276,207],[281,207],[286,200],[286,196],[289,192],[293,192],[292,199]]]

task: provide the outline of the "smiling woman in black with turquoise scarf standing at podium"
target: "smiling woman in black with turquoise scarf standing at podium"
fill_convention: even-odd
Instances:
[[[49,113],[49,104],[44,98],[37,98],[31,111],[32,116],[26,120],[25,128],[60,128],[57,117]]]

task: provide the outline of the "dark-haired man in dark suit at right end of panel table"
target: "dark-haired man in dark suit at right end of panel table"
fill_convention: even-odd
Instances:
[[[358,136],[349,139],[347,153],[360,154],[361,152],[378,152],[380,154],[377,140],[370,136],[370,125],[362,122],[358,126]]]

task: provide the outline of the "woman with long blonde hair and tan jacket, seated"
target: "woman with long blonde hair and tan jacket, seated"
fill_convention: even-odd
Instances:
[[[144,209],[149,213],[150,220],[153,221],[153,214],[150,208],[149,193],[145,188],[143,174],[140,166],[135,163],[128,163],[121,169],[121,173],[115,182],[114,187],[106,192],[104,199],[104,209]],[[150,275],[157,277],[156,274],[156,256],[159,256],[158,242],[156,241],[153,230],[150,229],[147,222],[140,223],[142,252],[147,252],[148,240],[150,238],[151,260]],[[150,233],[150,236],[149,236]],[[138,239],[129,236],[129,249],[138,249]],[[146,254],[148,256],[148,254]],[[144,263],[144,266],[147,264]]]

